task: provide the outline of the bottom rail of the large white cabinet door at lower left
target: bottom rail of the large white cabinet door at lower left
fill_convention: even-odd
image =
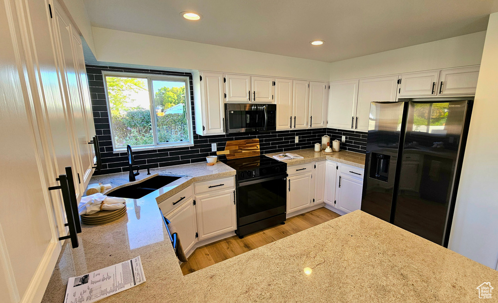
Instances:
[[[38,264],[38,268],[34,272],[31,281],[22,296],[19,303],[39,303],[43,299],[45,294],[45,289],[47,288],[52,272],[59,258],[61,252],[61,242],[51,242],[45,253],[41,262]]]

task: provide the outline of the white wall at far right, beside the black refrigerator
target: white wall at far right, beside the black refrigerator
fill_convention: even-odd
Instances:
[[[498,13],[490,15],[449,248],[497,268]]]

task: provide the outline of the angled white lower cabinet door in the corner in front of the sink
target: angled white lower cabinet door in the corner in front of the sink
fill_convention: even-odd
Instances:
[[[185,254],[188,254],[197,242],[197,218],[194,200],[192,197],[180,207],[165,216],[176,227],[178,237],[182,243]]]

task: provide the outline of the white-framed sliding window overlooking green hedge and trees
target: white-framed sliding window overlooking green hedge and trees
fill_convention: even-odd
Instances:
[[[188,77],[104,72],[104,83],[114,151],[193,145]]]

